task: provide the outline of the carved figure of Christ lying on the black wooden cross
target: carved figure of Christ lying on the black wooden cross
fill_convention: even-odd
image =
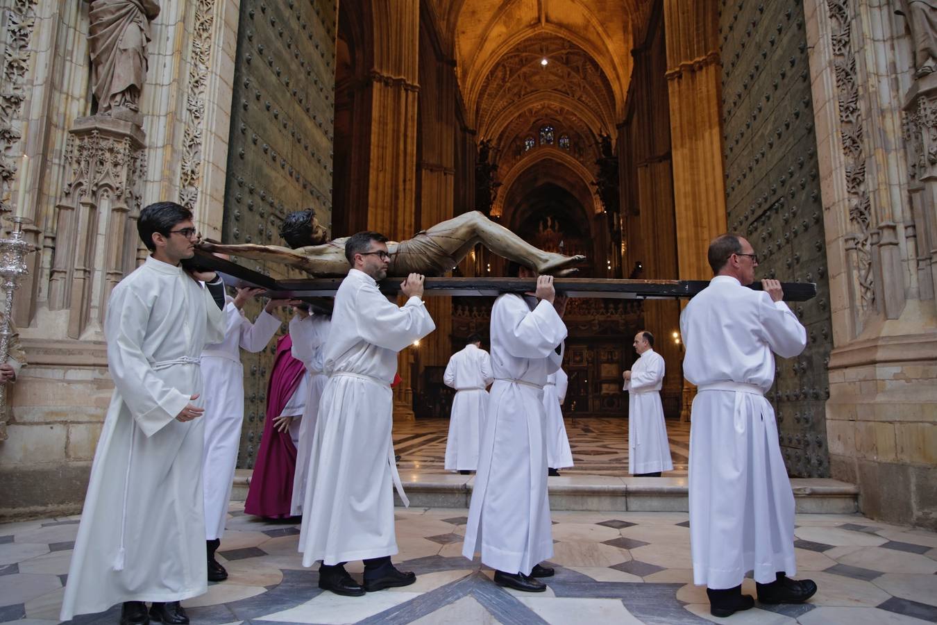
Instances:
[[[266,260],[301,269],[315,277],[340,277],[349,272],[345,258],[348,237],[327,241],[327,232],[312,210],[290,213],[283,220],[280,236],[290,247],[256,244],[221,245],[201,242],[201,249],[245,259]],[[389,241],[391,265],[387,275],[411,273],[443,275],[451,272],[476,244],[498,256],[529,267],[540,275],[571,275],[573,264],[585,256],[564,256],[531,246],[507,228],[478,211],[447,219],[429,230],[417,232],[406,241]]]

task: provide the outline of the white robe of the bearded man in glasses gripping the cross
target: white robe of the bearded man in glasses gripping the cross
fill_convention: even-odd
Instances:
[[[306,471],[304,566],[397,553],[392,484],[407,499],[394,464],[391,382],[397,352],[436,329],[420,298],[398,307],[357,269],[338,287],[332,316],[323,365],[329,380]]]

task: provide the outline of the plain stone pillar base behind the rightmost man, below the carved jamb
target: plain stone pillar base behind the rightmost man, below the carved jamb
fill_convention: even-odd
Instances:
[[[937,333],[833,350],[829,379],[833,477],[871,518],[937,530]]]

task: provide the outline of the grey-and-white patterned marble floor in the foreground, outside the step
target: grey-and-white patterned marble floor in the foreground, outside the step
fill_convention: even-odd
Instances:
[[[231,504],[220,558],[231,573],[185,603],[193,625],[258,623],[803,623],[937,622],[937,534],[861,515],[796,519],[799,577],[820,587],[810,603],[711,618],[692,585],[686,513],[553,513],[557,575],[548,590],[498,588],[492,572],[462,558],[466,510],[398,509],[394,562],[417,583],[364,597],[317,587],[296,552],[299,527],[266,522]],[[0,622],[57,622],[78,517],[0,525]],[[362,571],[352,562],[353,575]],[[751,579],[745,590],[753,594]],[[75,623],[116,623],[119,606]]]

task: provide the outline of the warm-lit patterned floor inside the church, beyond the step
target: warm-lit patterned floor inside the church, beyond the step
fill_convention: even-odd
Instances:
[[[628,420],[608,417],[587,419],[566,417],[566,436],[573,452],[571,473],[591,475],[628,474]],[[690,424],[667,419],[667,438],[674,470],[665,475],[685,476],[690,457]],[[448,419],[421,419],[394,423],[394,451],[400,455],[400,469],[443,471]]]

